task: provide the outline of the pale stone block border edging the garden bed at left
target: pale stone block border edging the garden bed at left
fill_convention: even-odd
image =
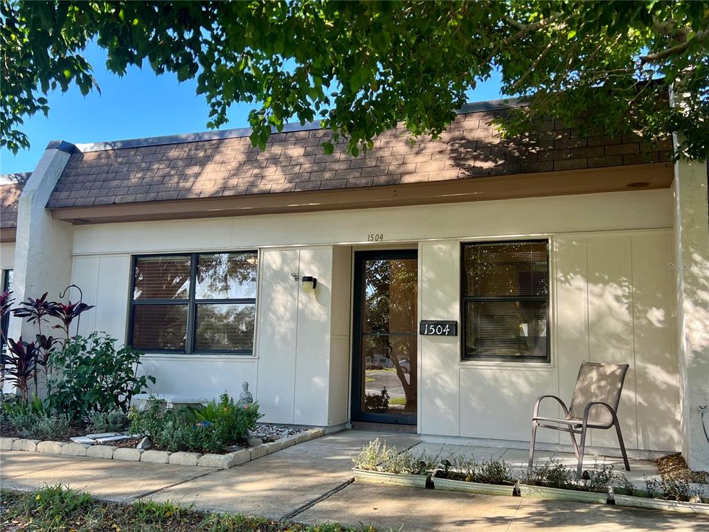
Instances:
[[[279,438],[271,443],[262,443],[255,447],[237,450],[233,453],[216,455],[211,453],[170,453],[166,450],[142,450],[114,445],[86,445],[84,443],[65,443],[60,441],[26,440],[22,438],[0,438],[0,450],[24,450],[30,453],[52,455],[88,456],[106,460],[125,460],[127,462],[150,462],[153,464],[193,465],[196,467],[216,467],[230,469],[265,455],[276,453],[309,440],[325,436],[324,428],[309,428],[301,433]]]

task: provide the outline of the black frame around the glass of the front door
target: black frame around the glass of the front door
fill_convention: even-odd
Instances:
[[[367,414],[362,412],[360,399],[362,397],[362,316],[364,314],[364,297],[362,293],[364,282],[364,261],[372,259],[413,259],[416,261],[416,277],[418,283],[418,248],[406,249],[372,249],[355,250],[352,254],[353,280],[352,280],[352,378],[350,396],[350,421],[365,421],[369,423],[393,423],[406,426],[417,426],[418,406],[415,414],[411,416],[394,416],[392,414]],[[418,299],[418,296],[417,296]],[[416,301],[418,309],[418,301]],[[416,337],[416,353],[418,355],[418,331]],[[418,359],[418,356],[417,356]],[[417,360],[418,364],[418,360]],[[416,374],[416,388],[418,389],[418,372]],[[418,401],[417,401],[418,404]]]

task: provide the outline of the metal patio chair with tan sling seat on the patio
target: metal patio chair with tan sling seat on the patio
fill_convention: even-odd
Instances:
[[[579,466],[576,468],[576,479],[581,478],[581,469],[584,465],[584,448],[586,446],[586,432],[589,428],[608,429],[615,426],[620,443],[620,452],[623,453],[625,470],[630,471],[630,464],[625,453],[623,435],[620,433],[620,423],[618,423],[618,403],[620,394],[623,392],[623,382],[627,373],[627,364],[596,364],[594,362],[582,362],[579,369],[579,376],[576,377],[576,387],[571,396],[571,406],[566,408],[564,401],[555,395],[542,395],[534,405],[532,414],[532,443],[530,444],[530,467],[534,462],[534,445],[537,438],[537,427],[552,428],[554,431],[569,433],[571,443],[574,445],[576,460]],[[539,406],[542,399],[547,397],[556,399],[564,409],[563,418],[552,418],[539,415]],[[543,423],[540,423],[542,421]],[[557,423],[549,425],[548,423]],[[580,430],[579,430],[580,429]],[[581,434],[581,448],[576,445],[575,434]]]

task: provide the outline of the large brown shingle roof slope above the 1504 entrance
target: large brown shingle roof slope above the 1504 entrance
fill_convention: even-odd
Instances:
[[[215,196],[273,194],[433,182],[663,162],[669,143],[640,138],[580,137],[563,124],[524,139],[503,140],[491,119],[505,111],[459,114],[437,140],[413,138],[403,126],[374,140],[365,155],[345,145],[324,155],[322,129],[274,133],[266,150],[246,136],[74,153],[48,208]]]

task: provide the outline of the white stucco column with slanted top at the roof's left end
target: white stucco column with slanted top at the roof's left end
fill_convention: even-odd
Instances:
[[[48,298],[57,299],[72,277],[73,226],[52,218],[45,207],[73,149],[62,141],[49,143],[22,190],[13,275],[16,303],[45,292],[49,292]],[[9,336],[33,339],[35,326],[11,318]]]

